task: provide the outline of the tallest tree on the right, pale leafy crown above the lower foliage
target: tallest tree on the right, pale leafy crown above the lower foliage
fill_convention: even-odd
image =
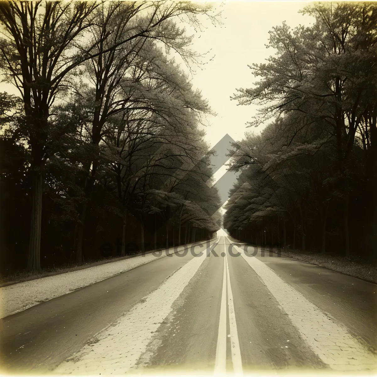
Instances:
[[[259,103],[264,106],[251,125],[258,125],[282,113],[296,113],[301,119],[302,129],[313,122],[320,127],[322,138],[318,139],[318,148],[329,139],[334,140],[336,164],[328,183],[336,186],[337,196],[343,198],[347,240],[349,190],[353,185],[349,171],[352,170],[355,153],[358,153],[356,139],[360,132],[366,150],[369,134],[375,130],[372,114],[377,84],[377,11],[375,5],[361,3],[319,4],[308,6],[302,12],[315,17],[316,23],[312,27],[299,26],[293,30],[285,23],[273,28],[269,47],[276,49],[276,56],[271,56],[267,64],[253,64],[253,74],[262,77],[262,80],[257,81],[252,89],[239,89],[239,94],[233,99],[239,104]],[[308,146],[303,144],[298,148],[302,150]],[[313,147],[315,145],[311,143],[310,148]],[[368,155],[368,167],[374,164],[372,155]],[[254,163],[247,156],[245,159],[247,164]],[[372,188],[375,184],[371,184],[375,170],[371,172],[368,169],[366,179],[372,208],[377,203]],[[377,207],[373,213],[372,223],[377,234]]]

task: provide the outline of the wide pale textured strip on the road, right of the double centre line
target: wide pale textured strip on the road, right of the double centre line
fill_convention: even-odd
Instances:
[[[344,325],[336,323],[262,261],[245,256],[242,248],[234,247],[257,273],[302,338],[324,363],[338,371],[375,370],[377,357],[354,339]]]

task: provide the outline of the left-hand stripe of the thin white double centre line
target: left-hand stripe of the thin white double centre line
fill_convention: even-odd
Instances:
[[[227,362],[227,266],[224,257],[224,274],[220,307],[219,332],[216,346],[215,374],[225,374]]]

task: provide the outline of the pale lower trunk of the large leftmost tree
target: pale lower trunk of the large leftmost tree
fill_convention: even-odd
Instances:
[[[32,170],[32,209],[29,238],[28,270],[41,270],[43,173],[41,168]]]

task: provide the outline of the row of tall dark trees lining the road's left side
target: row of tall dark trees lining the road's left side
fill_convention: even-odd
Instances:
[[[200,63],[177,23],[200,17],[217,22],[186,2],[0,3],[0,69],[20,93],[0,96],[2,273],[218,230],[211,110],[169,57]]]

